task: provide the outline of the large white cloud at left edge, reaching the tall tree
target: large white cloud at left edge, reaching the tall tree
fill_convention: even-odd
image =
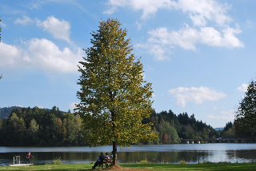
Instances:
[[[26,42],[24,50],[0,42],[0,66],[6,68],[36,68],[56,73],[77,73],[83,52],[69,48],[59,50],[54,42],[33,38]]]

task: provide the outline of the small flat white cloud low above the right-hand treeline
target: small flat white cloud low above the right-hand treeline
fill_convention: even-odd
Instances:
[[[218,101],[220,98],[226,97],[225,93],[217,92],[208,87],[178,87],[177,89],[169,89],[170,95],[174,95],[177,105],[186,106],[186,102],[194,102],[195,104],[202,104],[204,101]]]

